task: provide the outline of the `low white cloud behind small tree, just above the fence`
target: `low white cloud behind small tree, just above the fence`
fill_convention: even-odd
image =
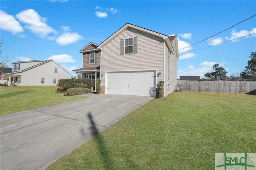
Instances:
[[[214,64],[216,64],[217,62],[213,62],[213,61],[204,61],[202,63],[200,63],[200,68],[196,68],[194,67],[194,65],[188,65],[188,67],[186,67],[185,69],[180,69],[177,71],[178,73],[178,78],[179,76],[186,76],[186,75],[191,75],[191,76],[196,76],[199,75],[201,78],[204,77],[204,74],[207,72],[212,72],[212,66]],[[226,65],[226,62],[222,62],[222,63],[218,63],[220,65],[220,67],[224,67],[224,65]],[[227,71],[228,69],[225,68]]]

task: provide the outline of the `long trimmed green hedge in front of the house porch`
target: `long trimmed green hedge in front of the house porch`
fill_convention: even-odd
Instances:
[[[64,87],[64,91],[74,87],[92,88],[95,85],[94,79],[60,79],[57,84]]]

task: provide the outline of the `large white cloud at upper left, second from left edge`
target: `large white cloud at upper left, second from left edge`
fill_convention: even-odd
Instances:
[[[45,38],[50,33],[56,33],[56,31],[46,24],[47,18],[42,18],[35,10],[28,9],[20,12],[16,15],[16,18],[24,24],[27,24],[25,28],[37,34],[40,38]]]

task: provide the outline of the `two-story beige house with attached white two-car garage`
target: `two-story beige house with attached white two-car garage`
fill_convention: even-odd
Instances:
[[[176,88],[177,36],[127,23],[100,45],[91,42],[80,52],[83,68],[74,72],[100,77],[103,94],[156,97],[158,81],[164,81],[164,96]]]

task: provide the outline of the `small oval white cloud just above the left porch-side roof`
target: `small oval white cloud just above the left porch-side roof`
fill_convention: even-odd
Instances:
[[[83,37],[80,36],[78,33],[63,33],[57,39],[56,42],[60,45],[68,45],[71,43],[75,43],[78,40],[82,39]]]

